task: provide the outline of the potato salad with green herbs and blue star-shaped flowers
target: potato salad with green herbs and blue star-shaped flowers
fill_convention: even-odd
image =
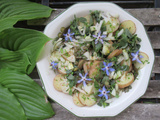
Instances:
[[[98,10],[75,15],[53,40],[54,88],[79,107],[109,106],[132,89],[139,70],[149,64],[140,42],[135,23],[120,21],[119,15]]]

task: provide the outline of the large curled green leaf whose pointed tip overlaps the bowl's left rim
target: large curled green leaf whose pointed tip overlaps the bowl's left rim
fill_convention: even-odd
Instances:
[[[10,68],[30,74],[44,44],[50,40],[43,33],[23,28],[0,32],[0,69]]]

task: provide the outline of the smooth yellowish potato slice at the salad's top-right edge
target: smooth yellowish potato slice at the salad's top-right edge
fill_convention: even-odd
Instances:
[[[120,25],[120,28],[123,28],[123,29],[127,28],[131,34],[135,34],[135,32],[136,32],[136,25],[131,20],[123,21]]]

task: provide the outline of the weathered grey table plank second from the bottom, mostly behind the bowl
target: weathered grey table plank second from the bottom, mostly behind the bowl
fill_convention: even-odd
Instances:
[[[40,86],[40,79],[34,79]],[[160,80],[150,80],[146,93],[141,98],[160,98]]]

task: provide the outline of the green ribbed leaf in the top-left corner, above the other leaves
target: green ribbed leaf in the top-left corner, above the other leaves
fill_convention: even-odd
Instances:
[[[0,0],[0,31],[17,21],[49,17],[52,9],[29,0]]]

